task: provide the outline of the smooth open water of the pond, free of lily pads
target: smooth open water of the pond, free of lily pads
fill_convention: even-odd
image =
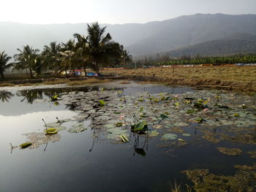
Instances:
[[[252,164],[242,154],[222,155],[217,146],[255,150],[249,145],[219,142],[212,144],[195,134],[195,124],[186,128],[192,134],[186,147],[170,153],[157,147],[156,138],[131,136],[127,144],[113,144],[104,133],[94,138],[88,128],[78,134],[59,131],[58,139],[34,149],[10,150],[12,145],[27,142],[26,135],[42,132],[46,122],[72,118],[77,112],[62,101],[50,101],[67,91],[96,91],[99,87],[10,91],[0,101],[0,191],[170,191],[170,183],[189,183],[180,172],[185,169],[210,169],[216,174],[234,174],[235,164]],[[190,88],[123,88],[124,93],[181,93]],[[67,123],[67,126],[68,123]],[[217,130],[218,131],[218,130]],[[90,151],[90,149],[92,149]],[[203,152],[203,153],[202,153]]]

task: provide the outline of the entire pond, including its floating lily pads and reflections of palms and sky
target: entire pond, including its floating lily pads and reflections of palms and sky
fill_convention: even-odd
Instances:
[[[256,191],[255,115],[254,96],[219,90],[1,88],[0,191]]]

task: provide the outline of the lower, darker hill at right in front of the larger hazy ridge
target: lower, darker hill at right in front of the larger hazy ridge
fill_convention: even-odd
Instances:
[[[194,57],[196,55],[220,56],[237,53],[256,53],[256,36],[251,34],[232,34],[213,41],[202,42],[158,54],[178,58],[183,55]]]

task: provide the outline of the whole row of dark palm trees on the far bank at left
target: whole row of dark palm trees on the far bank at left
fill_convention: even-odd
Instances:
[[[30,77],[39,76],[44,71],[54,72],[59,75],[68,70],[94,69],[99,74],[102,66],[116,66],[129,64],[132,56],[118,42],[114,42],[110,34],[105,34],[105,28],[100,28],[99,23],[87,25],[88,35],[74,34],[73,39],[67,43],[58,44],[50,42],[45,45],[42,52],[26,45],[18,49],[13,56],[14,61],[9,63],[12,57],[0,52],[0,75],[4,79],[4,71],[11,66],[18,71],[29,70]]]

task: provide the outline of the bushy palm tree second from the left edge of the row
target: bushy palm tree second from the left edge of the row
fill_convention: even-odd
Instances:
[[[37,56],[39,50],[34,50],[33,47],[29,45],[23,46],[23,49],[18,49],[20,53],[14,55],[15,61],[18,61],[15,64],[14,69],[24,70],[29,69],[30,77],[33,78],[33,71],[36,70]]]

